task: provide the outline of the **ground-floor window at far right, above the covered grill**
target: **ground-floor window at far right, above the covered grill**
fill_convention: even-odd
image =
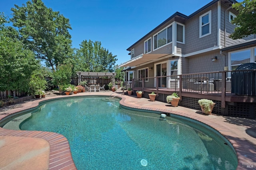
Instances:
[[[250,63],[250,55],[250,49],[230,53],[231,70],[235,70],[239,65],[243,63]]]

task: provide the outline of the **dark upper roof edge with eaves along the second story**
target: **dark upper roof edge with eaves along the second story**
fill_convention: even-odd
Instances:
[[[179,18],[181,20],[188,20],[189,18],[191,18],[192,16],[198,14],[199,12],[201,12],[202,10],[208,8],[209,6],[211,6],[212,4],[214,4],[215,2],[218,2],[219,0],[213,0],[212,2],[206,4],[205,6],[203,6],[202,8],[200,8],[199,10],[197,10],[196,12],[190,14],[189,16],[186,16],[180,12],[175,12],[172,16],[170,16],[169,18],[167,18],[164,22],[162,22],[160,25],[158,25],[156,28],[154,28],[152,31],[150,31],[148,34],[146,34],[145,36],[143,36],[140,40],[138,40],[136,43],[134,43],[133,45],[131,45],[129,48],[127,48],[127,51],[130,51],[132,46],[136,45],[137,43],[139,43],[141,40],[143,40],[144,38],[148,37],[150,34],[152,34],[152,32],[156,31],[158,28],[160,28],[161,26],[163,26],[164,24],[166,24],[168,21],[170,21],[173,18]],[[224,3],[237,3],[236,0],[222,0]]]

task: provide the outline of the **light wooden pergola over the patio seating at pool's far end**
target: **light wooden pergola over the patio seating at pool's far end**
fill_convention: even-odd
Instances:
[[[116,73],[107,73],[107,72],[84,72],[84,71],[77,71],[76,74],[78,75],[78,84],[82,81],[83,78],[89,78],[94,79],[94,78],[100,78],[102,77],[108,77],[112,79],[112,84],[114,85],[115,83],[115,76]],[[93,84],[96,84],[94,82]]]

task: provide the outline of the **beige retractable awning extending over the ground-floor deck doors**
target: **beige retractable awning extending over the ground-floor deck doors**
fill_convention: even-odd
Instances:
[[[170,54],[141,54],[121,65],[118,65],[118,67],[136,66],[136,65],[146,63],[148,61],[153,61],[155,59],[158,59],[167,55],[170,55]]]

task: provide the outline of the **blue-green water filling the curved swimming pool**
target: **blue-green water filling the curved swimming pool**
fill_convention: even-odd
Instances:
[[[106,97],[47,102],[20,129],[64,135],[78,170],[235,170],[238,164],[227,141],[210,128],[132,111]]]

